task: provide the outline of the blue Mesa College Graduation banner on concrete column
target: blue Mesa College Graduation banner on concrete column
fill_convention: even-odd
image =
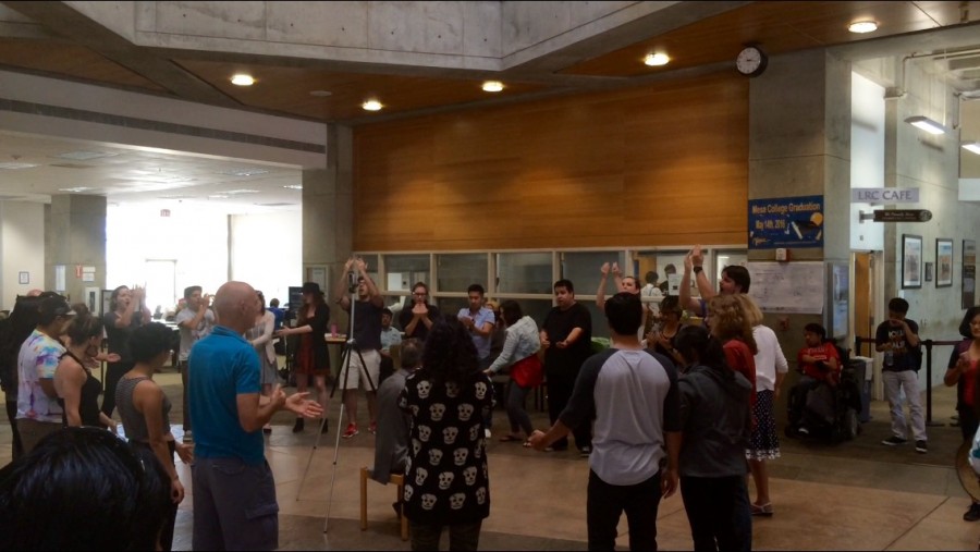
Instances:
[[[749,201],[749,249],[823,247],[823,196]]]

